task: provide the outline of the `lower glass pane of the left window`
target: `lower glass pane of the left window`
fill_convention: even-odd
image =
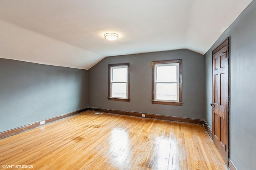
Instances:
[[[127,98],[127,83],[112,83],[112,98]]]

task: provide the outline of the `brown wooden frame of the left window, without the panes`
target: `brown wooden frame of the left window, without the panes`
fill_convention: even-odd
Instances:
[[[127,98],[116,98],[111,97],[112,92],[112,67],[127,66]],[[130,102],[130,63],[121,63],[121,64],[108,64],[108,100]]]

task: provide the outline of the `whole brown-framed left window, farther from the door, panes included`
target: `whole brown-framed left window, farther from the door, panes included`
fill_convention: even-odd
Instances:
[[[108,100],[130,102],[130,64],[108,64]]]

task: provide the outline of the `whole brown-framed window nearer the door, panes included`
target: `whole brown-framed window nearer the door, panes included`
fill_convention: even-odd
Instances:
[[[182,105],[182,59],[152,62],[152,104]]]

